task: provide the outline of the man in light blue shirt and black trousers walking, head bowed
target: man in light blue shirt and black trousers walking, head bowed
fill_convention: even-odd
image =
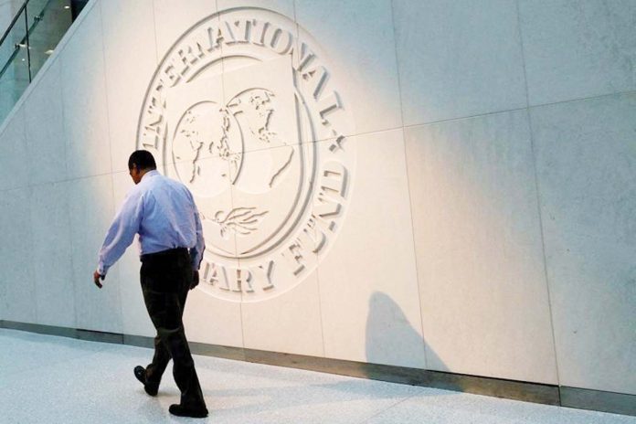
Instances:
[[[135,186],[123,201],[100,250],[93,281],[101,281],[139,234],[143,301],[153,321],[153,362],[136,366],[134,376],[150,396],[156,396],[165,367],[172,358],[181,403],[170,406],[180,417],[207,417],[195,363],[185,339],[182,316],[187,292],[198,284],[205,249],[201,221],[190,191],[156,171],[153,154],[131,154],[128,169]]]

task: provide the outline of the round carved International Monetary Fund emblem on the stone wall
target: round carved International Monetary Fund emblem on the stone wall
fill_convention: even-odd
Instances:
[[[260,8],[208,16],[157,67],[137,148],[195,197],[199,290],[234,302],[314,275],[345,218],[355,168],[343,87],[320,46]]]

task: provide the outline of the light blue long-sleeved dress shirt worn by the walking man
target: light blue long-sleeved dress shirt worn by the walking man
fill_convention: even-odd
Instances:
[[[97,271],[106,275],[139,234],[140,255],[187,248],[198,270],[205,243],[195,200],[185,185],[149,171],[123,201],[101,246]]]

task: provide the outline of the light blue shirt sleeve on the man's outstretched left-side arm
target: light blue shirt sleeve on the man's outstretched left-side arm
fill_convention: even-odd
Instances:
[[[97,271],[106,275],[109,268],[119,260],[139,232],[143,217],[143,196],[130,194],[112,221],[106,239],[100,249]]]

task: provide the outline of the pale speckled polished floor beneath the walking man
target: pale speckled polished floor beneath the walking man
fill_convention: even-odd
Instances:
[[[636,418],[196,356],[207,419],[172,417],[132,376],[149,349],[0,329],[0,423],[636,424]],[[169,368],[170,369],[170,368]]]

